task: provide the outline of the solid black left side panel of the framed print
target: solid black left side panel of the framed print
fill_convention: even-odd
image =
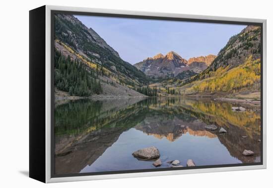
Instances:
[[[46,182],[46,6],[29,10],[29,177]]]

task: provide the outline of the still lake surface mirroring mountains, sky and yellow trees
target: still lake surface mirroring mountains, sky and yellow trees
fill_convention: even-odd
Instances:
[[[168,167],[167,159],[178,159],[183,166],[188,159],[197,166],[260,162],[260,111],[234,112],[232,106],[238,104],[182,97],[88,99],[56,105],[55,173],[152,169],[152,161],[132,156],[150,146],[160,151],[159,168]],[[208,124],[227,133],[208,131]],[[243,156],[244,149],[255,155]]]

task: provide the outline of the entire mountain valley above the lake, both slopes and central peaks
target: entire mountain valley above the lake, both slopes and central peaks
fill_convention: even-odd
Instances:
[[[132,65],[73,15],[55,15],[56,98],[217,95],[260,99],[261,28],[247,26],[217,55],[170,49]],[[126,45],[126,44],[125,44]],[[132,63],[132,62],[131,62]]]

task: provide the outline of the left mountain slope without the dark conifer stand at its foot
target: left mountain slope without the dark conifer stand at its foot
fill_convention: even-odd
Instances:
[[[83,63],[89,77],[100,82],[101,94],[141,96],[134,90],[149,82],[145,74],[123,61],[93,29],[72,15],[55,15],[55,48],[65,57],[63,59],[69,56],[71,61]],[[65,84],[68,84],[66,88],[74,87],[70,82]]]

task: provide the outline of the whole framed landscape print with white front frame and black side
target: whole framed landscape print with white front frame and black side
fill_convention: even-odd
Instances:
[[[266,20],[30,10],[30,177],[266,168]]]

